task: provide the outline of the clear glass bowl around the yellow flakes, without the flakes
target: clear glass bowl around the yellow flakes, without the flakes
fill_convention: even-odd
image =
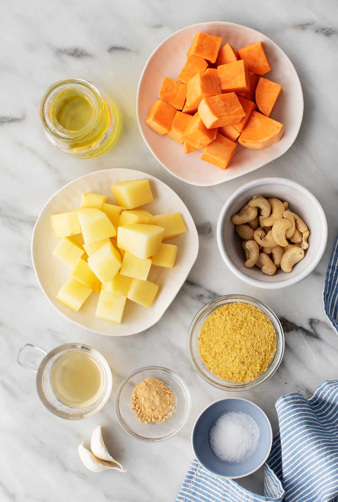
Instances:
[[[257,376],[255,380],[251,380],[250,382],[230,382],[228,380],[221,379],[219,376],[212,373],[209,368],[207,368],[199,352],[199,336],[204,321],[217,308],[234,302],[247,303],[257,307],[270,319],[276,333],[276,350],[269,366],[262,374]],[[262,302],[256,300],[256,298],[244,295],[220,296],[219,298],[216,298],[216,300],[212,300],[210,303],[207,303],[207,305],[202,307],[194,317],[188,331],[188,352],[194,368],[209,384],[224,391],[247,391],[257,387],[263,382],[266,382],[281,363],[284,354],[283,328],[276,314]]]

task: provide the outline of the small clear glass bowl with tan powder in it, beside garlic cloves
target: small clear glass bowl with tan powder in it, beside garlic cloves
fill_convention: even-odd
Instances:
[[[148,396],[144,387],[148,388]],[[163,391],[172,399],[166,417],[142,423],[143,417],[136,416],[137,409],[144,411],[147,398],[154,396],[151,409],[156,414],[156,407],[163,406]],[[134,401],[135,394],[139,397],[138,403]],[[190,409],[191,396],[187,384],[180,375],[160,366],[147,366],[130,373],[115,397],[115,412],[121,427],[130,436],[150,443],[164,441],[179,432],[188,420]]]

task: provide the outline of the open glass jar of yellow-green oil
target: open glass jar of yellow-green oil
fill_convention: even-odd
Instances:
[[[40,118],[52,145],[82,159],[104,152],[116,140],[120,125],[109,96],[76,78],[60,80],[47,89]]]

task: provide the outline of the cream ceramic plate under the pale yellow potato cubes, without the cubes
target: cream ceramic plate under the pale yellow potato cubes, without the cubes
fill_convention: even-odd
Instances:
[[[56,299],[71,269],[51,255],[58,239],[52,232],[51,215],[79,207],[82,192],[107,195],[107,202],[115,204],[110,185],[122,181],[148,179],[154,201],[144,207],[152,214],[180,212],[188,226],[188,232],[168,243],[178,245],[178,255],[173,269],[152,266],[148,279],[159,285],[159,291],[148,308],[127,301],[123,323],[115,325],[95,317],[99,295],[93,292],[79,312],[73,312]],[[74,236],[76,237],[76,236]],[[83,242],[83,241],[82,241]],[[132,169],[108,169],[87,174],[71,181],[47,202],[41,211],[32,236],[32,260],[39,284],[51,304],[64,317],[89,331],[110,336],[125,336],[150,328],[162,317],[172,303],[193,267],[199,250],[199,238],[194,220],[180,197],[162,181]]]

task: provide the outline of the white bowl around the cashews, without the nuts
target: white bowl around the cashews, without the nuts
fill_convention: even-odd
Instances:
[[[231,217],[257,193],[287,201],[291,211],[305,221],[310,231],[310,246],[305,251],[305,257],[289,274],[278,269],[275,275],[267,276],[257,267],[247,269],[244,266],[242,241]],[[326,241],[327,221],[320,203],[305,187],[286,178],[261,178],[243,185],[224,204],[217,223],[217,243],[224,262],[237,277],[257,288],[285,288],[307,277],[323,256]]]

